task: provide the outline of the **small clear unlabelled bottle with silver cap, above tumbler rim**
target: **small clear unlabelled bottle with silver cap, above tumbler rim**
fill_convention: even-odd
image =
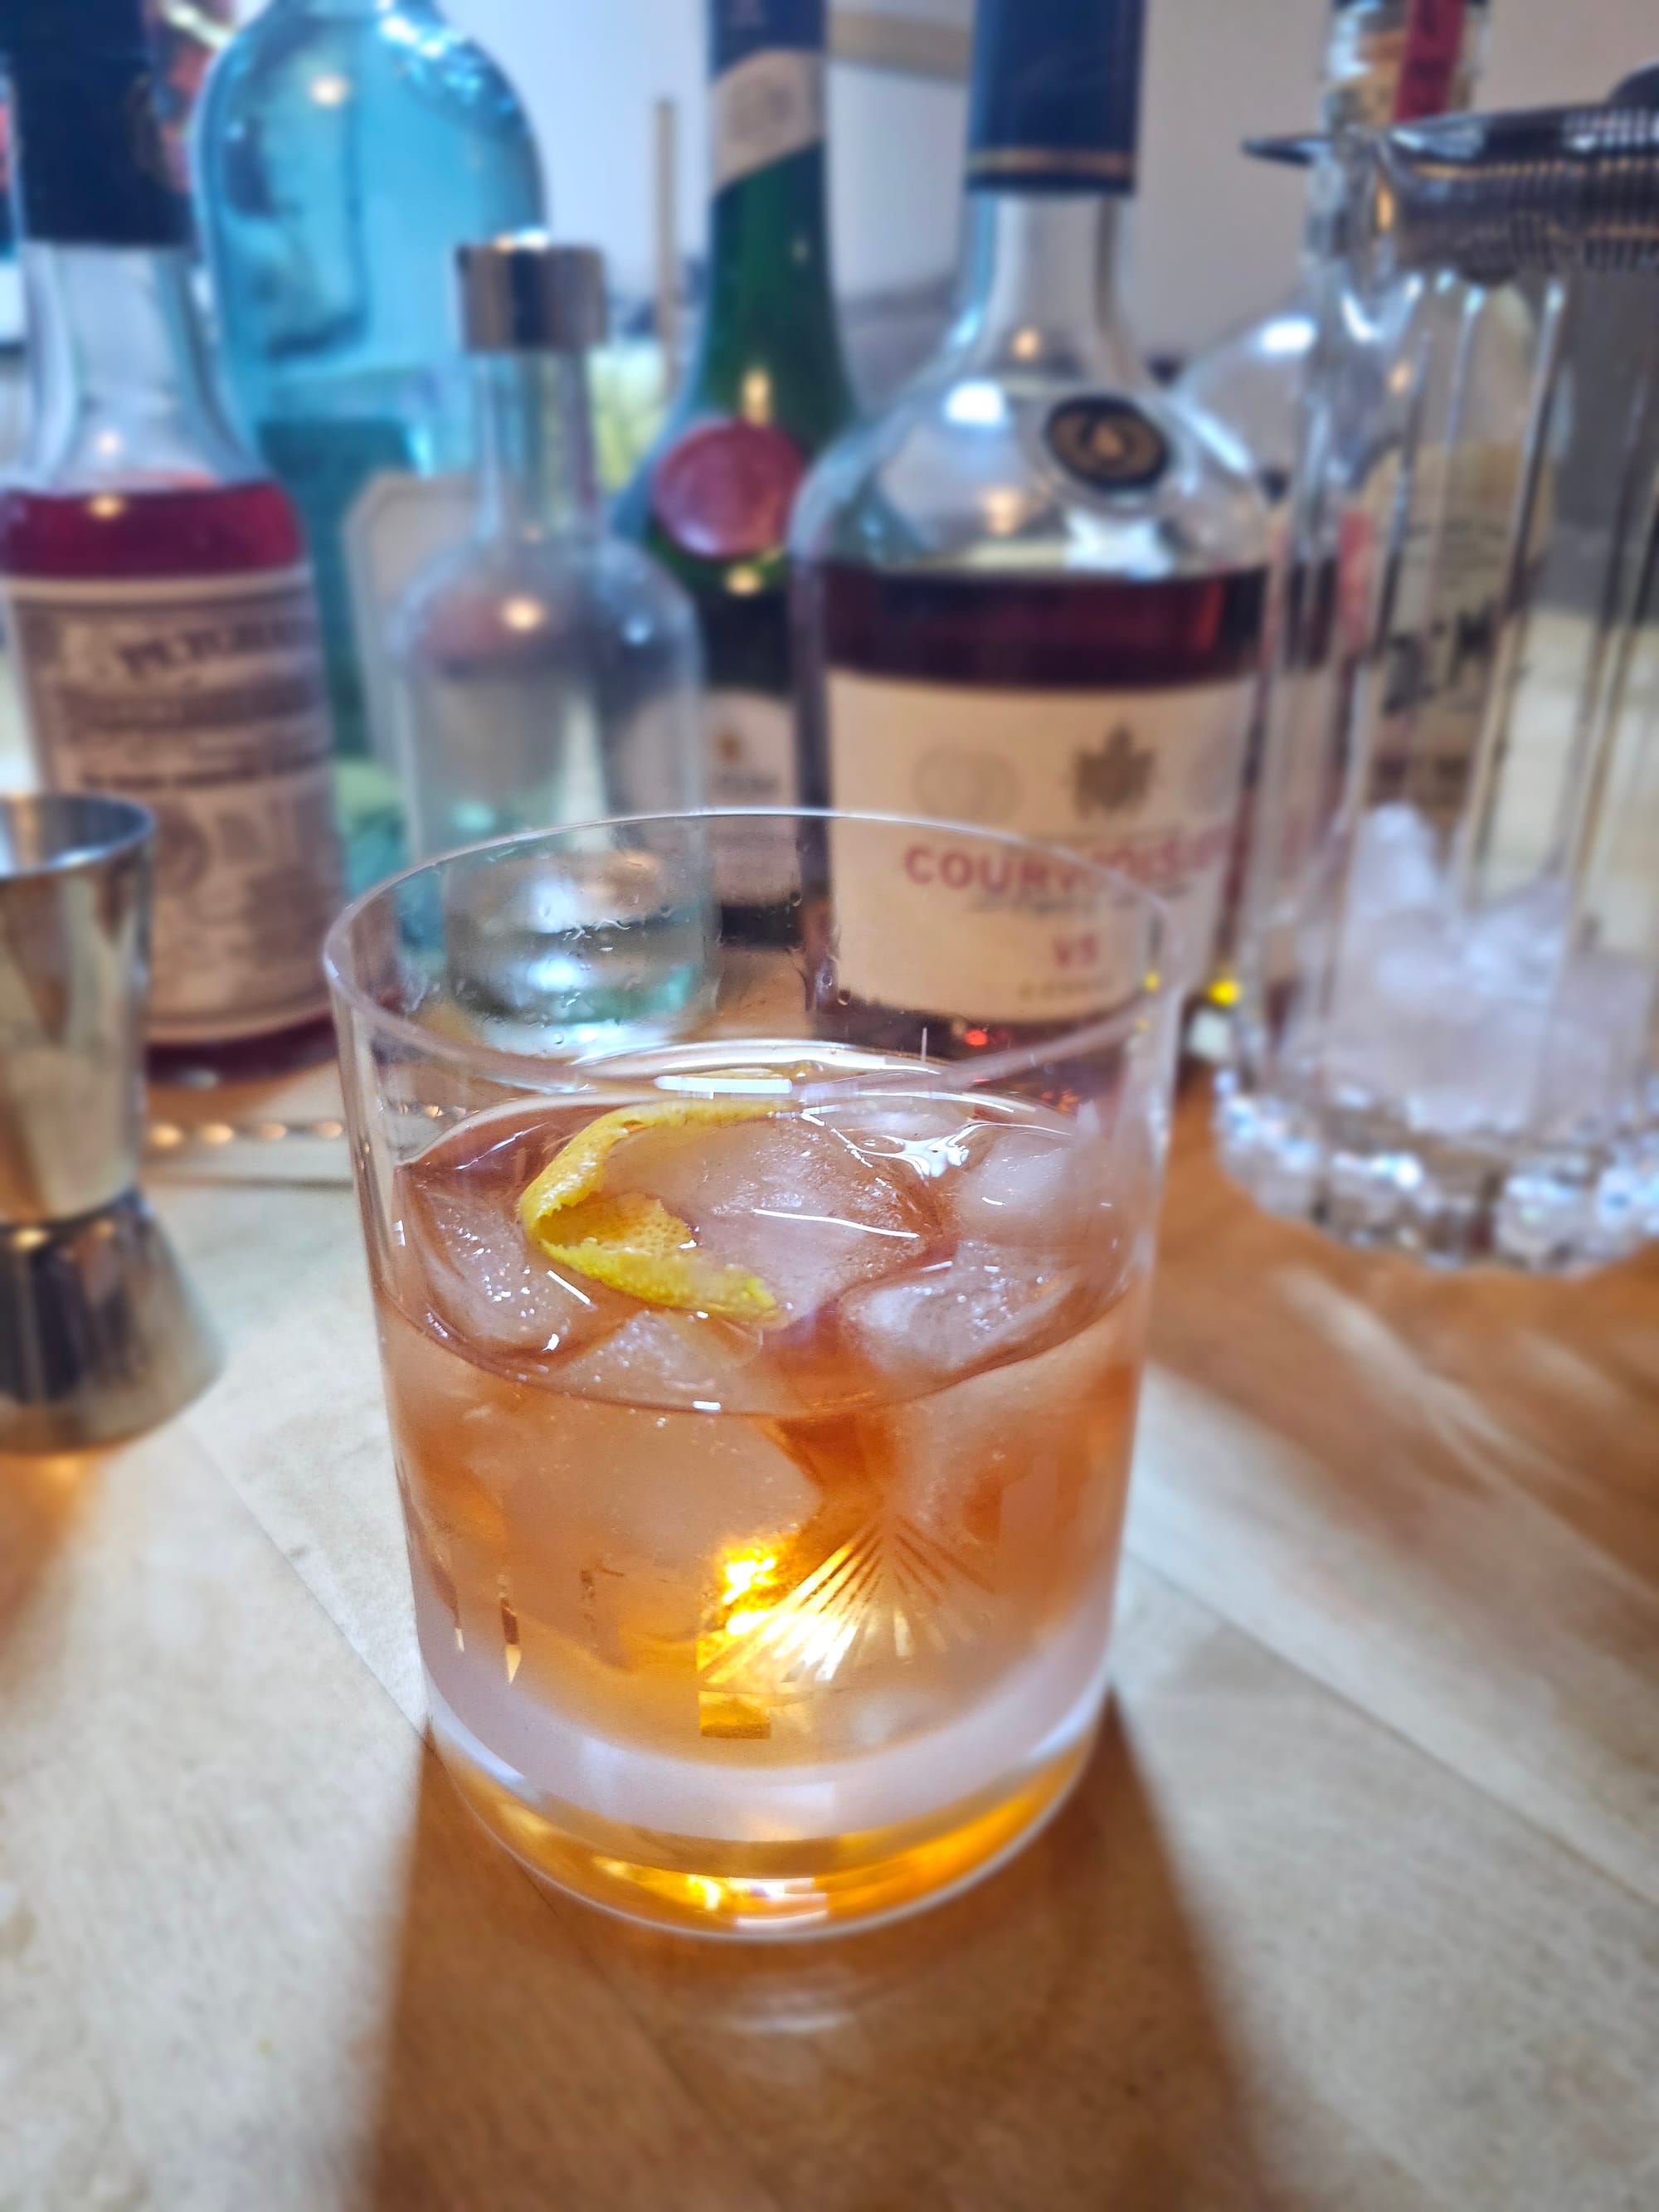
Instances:
[[[540,232],[465,246],[478,403],[471,535],[394,617],[418,856],[703,796],[701,648],[679,586],[606,535],[588,349],[604,261]]]

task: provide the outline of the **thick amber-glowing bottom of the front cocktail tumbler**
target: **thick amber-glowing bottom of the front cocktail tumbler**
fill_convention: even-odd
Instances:
[[[531,1874],[586,1905],[681,1936],[748,1942],[869,1929],[984,1880],[1046,1827],[1095,1745],[1097,1714],[1062,1752],[927,1820],[803,1843],[728,1843],[619,1825],[500,1778],[471,1734],[434,1712],[462,1798]]]

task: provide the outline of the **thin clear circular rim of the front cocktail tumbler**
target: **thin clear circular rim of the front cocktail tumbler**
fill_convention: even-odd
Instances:
[[[1177,987],[1170,971],[1175,967],[1181,931],[1168,902],[1135,883],[1135,878],[1126,876],[1121,869],[1108,867],[1104,860],[1091,860],[1088,854],[1073,852],[1068,845],[1055,845],[1048,838],[1022,836],[1018,830],[987,830],[980,823],[949,821],[947,816],[933,814],[869,814],[856,807],[672,807],[664,814],[602,814],[593,821],[560,823],[553,830],[520,830],[513,836],[482,838],[478,845],[458,845],[453,852],[416,860],[411,867],[398,869],[396,876],[387,876],[383,883],[361,891],[336,916],[327,938],[323,940],[323,975],[334,1000],[336,1024],[341,1009],[347,1009],[352,1018],[361,1020],[374,1035],[403,1044],[425,1060],[440,1060],[473,1075],[491,1075],[500,1082],[520,1084],[526,1091],[557,1088],[557,1077],[564,1077],[566,1082],[562,1088],[580,1088],[591,1097],[604,1097],[608,1091],[615,1091],[617,1099],[624,1104],[626,1099],[635,1099],[641,1091],[641,1079],[630,1082],[624,1075],[630,1060],[672,1051],[677,1042],[697,1046],[719,1040],[664,1037],[659,1044],[637,1042],[626,1051],[593,1051],[588,1055],[582,1051],[513,1053],[495,1044],[447,1037],[440,1031],[411,1020],[407,1013],[394,1013],[378,998],[372,998],[354,975],[347,975],[347,945],[361,918],[376,905],[392,900],[416,878],[438,876],[465,860],[480,860],[484,856],[511,854],[538,845],[557,845],[562,838],[591,836],[597,830],[655,830],[681,827],[688,823],[717,825],[726,821],[865,823],[876,830],[945,830],[956,836],[980,838],[987,845],[1009,845],[1020,852],[1040,852],[1071,869],[1079,869],[1086,878],[1093,878],[1102,891],[1110,891],[1126,905],[1137,907],[1139,914],[1150,920],[1155,931],[1157,964],[1141,975],[1135,993],[1113,1006],[1110,1013],[1102,1013],[1088,1022],[1057,1026],[1053,1035],[1035,1044],[1011,1046],[1004,1053],[987,1053],[982,1060],[922,1060],[918,1066],[929,1075],[933,1071],[960,1071],[973,1088],[984,1082],[1004,1082],[1011,1075],[1029,1073],[1031,1068],[1046,1066],[1053,1060],[1084,1057],[1088,1053],[1106,1051],[1113,1044],[1124,1044],[1137,1031],[1148,1029],[1164,1013],[1164,1009],[1175,1002]],[[730,1042],[741,1046],[759,1040],[732,1037]],[[783,1042],[812,1044],[816,1040],[801,1037]],[[874,1046],[860,1046],[858,1051],[869,1051],[874,1057]],[[810,1084],[781,1075],[776,1077],[776,1084],[768,1088],[768,1095],[776,1093],[779,1097],[814,1104],[843,1093],[854,1079],[860,1082],[863,1088],[880,1091],[900,1088],[907,1082],[914,1084],[916,1075],[918,1068],[849,1068],[845,1075],[825,1073],[823,1079]],[[684,1077],[679,1088],[684,1091]],[[708,1088],[717,1088],[712,1075]],[[748,1095],[754,1095],[752,1084],[748,1086]]]

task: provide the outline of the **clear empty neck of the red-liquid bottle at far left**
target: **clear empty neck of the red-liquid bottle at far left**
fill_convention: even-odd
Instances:
[[[42,491],[177,489],[263,471],[230,429],[181,246],[22,246]]]

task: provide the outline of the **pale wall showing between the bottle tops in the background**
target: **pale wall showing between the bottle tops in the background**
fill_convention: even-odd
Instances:
[[[971,0],[860,0],[967,22]],[[703,0],[447,0],[529,102],[553,226],[650,272],[650,108],[681,104],[681,232],[703,226]],[[1493,0],[1482,106],[1597,97],[1659,58],[1659,0]],[[1316,113],[1327,0],[1148,0],[1133,305],[1141,341],[1186,352],[1267,303],[1301,230],[1294,175],[1239,157],[1252,131]],[[964,97],[836,64],[836,250],[847,292],[938,276],[956,254]]]

